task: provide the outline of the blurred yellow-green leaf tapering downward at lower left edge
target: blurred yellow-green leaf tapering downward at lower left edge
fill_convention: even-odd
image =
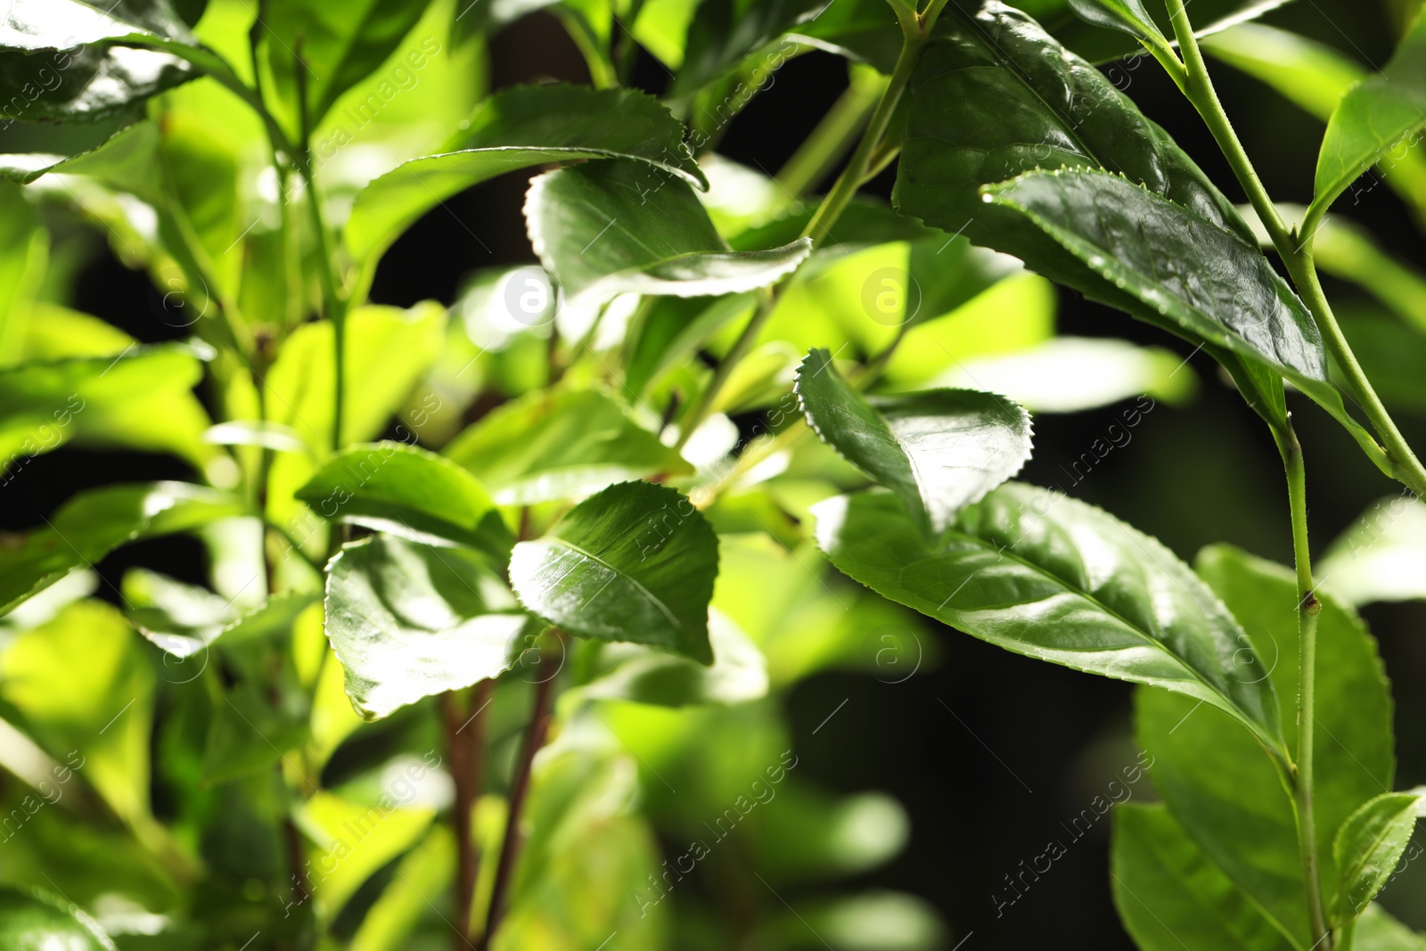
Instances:
[[[77,602],[10,642],[0,654],[0,697],[117,816],[141,824],[148,816],[154,673],[140,643],[114,607]]]

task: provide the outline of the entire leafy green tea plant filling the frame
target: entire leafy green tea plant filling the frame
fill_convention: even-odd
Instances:
[[[1426,469],[1318,274],[1387,267],[1329,215],[1373,167],[1426,214],[1426,21],[1363,77],[1201,3],[11,3],[6,480],[64,445],[194,478],[83,490],[0,546],[4,947],[934,947],[907,895],[784,915],[683,884],[756,867],[780,900],[900,848],[894,803],[796,773],[776,696],[914,673],[903,606],[1139,684],[1162,801],[1114,810],[1109,871],[1141,948],[1426,947],[1373,904],[1423,794],[1393,790],[1353,610],[1423,593],[1396,569]],[[538,7],[592,87],[486,91],[488,44]],[[776,180],[719,158],[813,48],[851,81]],[[1205,48],[1313,80],[1306,208],[1263,188]],[[662,100],[629,86],[640,56]],[[1166,71],[1249,211],[1095,66],[1124,57]],[[893,164],[891,207],[858,195]],[[449,311],[369,301],[424,215],[536,171],[540,267],[476,271]],[[63,305],[76,220],[188,339]],[[1426,285],[1390,267],[1369,289],[1420,329]],[[1226,371],[1282,455],[1292,569],[1189,567],[1011,480],[1031,411],[1147,391],[1134,426],[1191,384],[1176,355],[1054,338],[1045,278]],[[1405,488],[1332,572],[1289,384]],[[96,596],[96,562],[171,535],[205,585],[135,567]]]

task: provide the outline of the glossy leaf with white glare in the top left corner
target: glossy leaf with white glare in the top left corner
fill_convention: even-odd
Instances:
[[[24,121],[138,118],[144,100],[197,73],[154,50],[114,46],[124,37],[193,43],[165,0],[19,0],[0,24],[0,100],[21,103]]]

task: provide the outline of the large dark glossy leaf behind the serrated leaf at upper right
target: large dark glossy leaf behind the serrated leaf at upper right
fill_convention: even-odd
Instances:
[[[1058,4],[1050,10],[1078,23]],[[1018,10],[991,0],[971,16],[950,4],[907,96],[906,141],[891,195],[903,214],[964,231],[975,244],[1012,254],[1091,299],[1204,345],[1249,405],[1281,422],[1282,386],[1262,368],[1194,336],[1156,307],[1105,281],[1028,218],[983,201],[981,185],[1032,168],[1105,168],[1253,242],[1246,222],[1194,160],[1099,70]],[[1342,411],[1340,419],[1350,418]],[[1369,439],[1359,426],[1355,435]]]

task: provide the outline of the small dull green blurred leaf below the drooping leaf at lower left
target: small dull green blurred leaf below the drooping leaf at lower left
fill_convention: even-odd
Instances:
[[[218,786],[270,770],[307,740],[307,724],[255,683],[221,694],[208,721],[202,783]]]

